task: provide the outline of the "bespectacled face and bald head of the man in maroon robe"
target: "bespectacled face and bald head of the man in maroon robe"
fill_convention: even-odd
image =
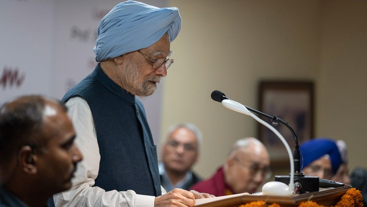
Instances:
[[[227,160],[226,183],[233,193],[254,193],[271,176],[270,159],[263,145],[250,145],[233,153]]]

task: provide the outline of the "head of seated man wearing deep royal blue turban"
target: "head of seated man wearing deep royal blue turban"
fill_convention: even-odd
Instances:
[[[301,171],[307,176],[330,179],[342,164],[338,146],[332,139],[316,138],[309,140],[300,145],[300,153]]]

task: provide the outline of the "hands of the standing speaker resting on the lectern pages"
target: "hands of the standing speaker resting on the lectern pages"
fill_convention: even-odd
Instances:
[[[193,207],[196,198],[214,197],[208,193],[199,193],[195,190],[187,191],[175,188],[164,195],[156,197],[154,207]]]

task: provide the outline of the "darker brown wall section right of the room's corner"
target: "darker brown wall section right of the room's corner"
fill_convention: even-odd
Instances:
[[[344,139],[350,168],[367,167],[367,1],[324,1],[316,133]]]

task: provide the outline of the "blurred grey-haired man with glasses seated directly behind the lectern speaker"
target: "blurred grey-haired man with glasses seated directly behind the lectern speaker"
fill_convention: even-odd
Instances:
[[[168,191],[188,190],[201,178],[192,171],[202,144],[202,133],[191,123],[174,124],[167,130],[159,163],[161,185]]]

